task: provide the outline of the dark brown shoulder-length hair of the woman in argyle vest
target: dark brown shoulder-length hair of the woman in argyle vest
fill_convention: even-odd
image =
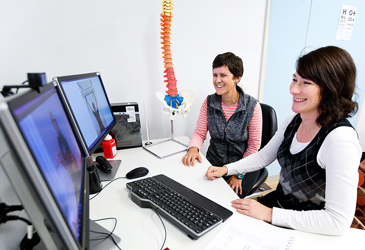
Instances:
[[[296,68],[299,76],[320,86],[320,126],[329,127],[357,112],[358,104],[352,99],[356,95],[356,66],[347,51],[336,46],[321,47],[299,57]]]

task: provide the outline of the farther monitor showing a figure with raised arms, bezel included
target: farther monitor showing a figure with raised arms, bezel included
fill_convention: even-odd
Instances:
[[[88,156],[95,151],[116,121],[100,73],[55,77],[75,121]]]

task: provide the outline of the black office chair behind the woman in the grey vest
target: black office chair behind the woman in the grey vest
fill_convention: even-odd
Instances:
[[[262,110],[261,149],[271,140],[271,138],[275,135],[275,132],[278,130],[278,119],[273,107],[263,103],[260,103],[260,106]],[[267,171],[265,167],[260,169],[257,181],[251,191],[248,192],[247,196],[253,194],[266,181],[268,176],[269,171]]]

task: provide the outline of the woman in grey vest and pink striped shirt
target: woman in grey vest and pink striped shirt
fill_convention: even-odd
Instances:
[[[197,127],[182,161],[194,166],[202,162],[200,148],[210,134],[206,158],[224,166],[258,151],[261,144],[262,114],[257,99],[237,86],[244,73],[242,60],[231,52],[217,55],[212,64],[216,93],[208,95],[200,110]],[[252,189],[259,171],[224,177],[235,193],[244,198]]]

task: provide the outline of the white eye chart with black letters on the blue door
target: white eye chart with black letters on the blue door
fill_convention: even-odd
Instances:
[[[343,5],[339,13],[336,40],[350,41],[357,7]]]

